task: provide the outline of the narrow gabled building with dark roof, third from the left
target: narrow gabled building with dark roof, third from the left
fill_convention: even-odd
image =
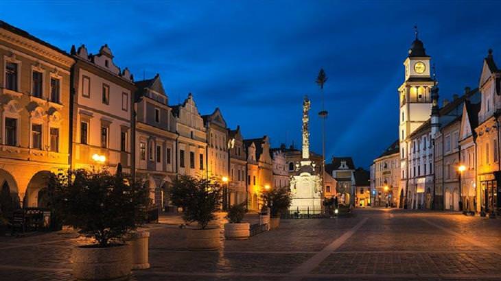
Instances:
[[[176,119],[160,75],[136,82],[136,177],[147,182],[157,208],[170,208],[167,188],[176,176]]]

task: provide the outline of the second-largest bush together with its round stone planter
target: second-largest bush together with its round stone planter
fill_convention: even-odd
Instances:
[[[208,228],[215,219],[221,201],[219,182],[205,178],[181,175],[172,182],[170,189],[172,204],[183,209],[183,219],[188,223],[196,222],[197,228],[187,228],[188,248],[210,250],[220,247],[219,228]]]

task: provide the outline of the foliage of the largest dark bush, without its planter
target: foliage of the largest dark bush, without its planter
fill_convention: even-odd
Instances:
[[[121,239],[144,222],[150,206],[148,188],[124,173],[83,169],[52,174],[49,200],[57,217],[99,247]]]

